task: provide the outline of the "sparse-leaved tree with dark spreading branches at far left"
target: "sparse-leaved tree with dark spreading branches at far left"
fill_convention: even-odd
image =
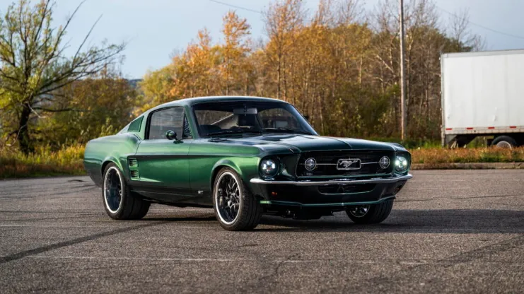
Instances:
[[[69,111],[52,107],[55,91],[91,76],[117,59],[124,45],[89,46],[93,28],[83,38],[72,57],[65,54],[66,30],[81,8],[64,25],[52,26],[54,2],[32,4],[19,0],[8,6],[0,18],[0,105],[14,124],[4,122],[8,135],[16,136],[21,151],[33,150],[30,139],[32,117]]]

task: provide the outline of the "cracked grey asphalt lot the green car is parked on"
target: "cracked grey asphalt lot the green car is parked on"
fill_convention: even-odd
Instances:
[[[1,293],[523,293],[524,170],[416,170],[390,217],[105,214],[88,177],[0,181]]]

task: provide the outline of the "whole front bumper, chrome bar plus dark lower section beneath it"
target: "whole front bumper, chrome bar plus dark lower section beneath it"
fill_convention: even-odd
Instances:
[[[368,180],[271,181],[254,178],[250,184],[253,192],[262,196],[261,204],[340,208],[378,204],[395,198],[411,178],[409,174]]]

